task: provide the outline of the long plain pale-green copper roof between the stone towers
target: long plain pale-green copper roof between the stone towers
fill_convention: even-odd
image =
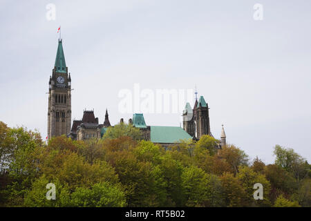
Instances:
[[[192,137],[179,126],[151,126],[151,142],[173,144]]]

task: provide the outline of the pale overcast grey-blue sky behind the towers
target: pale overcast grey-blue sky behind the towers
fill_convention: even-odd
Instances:
[[[255,20],[256,3],[262,20]],[[51,19],[49,4],[55,6]],[[62,27],[72,118],[127,120],[120,91],[198,90],[211,133],[273,163],[276,144],[311,161],[311,1],[0,2],[0,120],[47,134],[48,80]],[[258,14],[256,14],[258,15]],[[192,97],[193,98],[193,97]],[[193,107],[194,104],[191,103]],[[182,113],[144,113],[180,126]]]

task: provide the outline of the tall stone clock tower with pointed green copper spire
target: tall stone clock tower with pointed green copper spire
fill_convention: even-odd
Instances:
[[[55,65],[48,82],[48,139],[68,135],[71,128],[71,79],[62,39],[58,41]]]

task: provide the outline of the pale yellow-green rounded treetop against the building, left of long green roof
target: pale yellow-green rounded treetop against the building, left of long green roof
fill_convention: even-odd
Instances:
[[[133,140],[142,140],[140,128],[135,128],[132,124],[120,123],[115,126],[109,126],[103,139],[116,139],[120,137],[131,137]]]

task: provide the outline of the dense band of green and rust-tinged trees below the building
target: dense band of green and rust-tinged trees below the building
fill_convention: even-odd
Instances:
[[[276,145],[265,165],[208,135],[167,150],[140,137],[124,124],[102,140],[46,144],[0,122],[0,206],[311,206],[310,164],[292,149]],[[254,200],[256,183],[263,200]]]

